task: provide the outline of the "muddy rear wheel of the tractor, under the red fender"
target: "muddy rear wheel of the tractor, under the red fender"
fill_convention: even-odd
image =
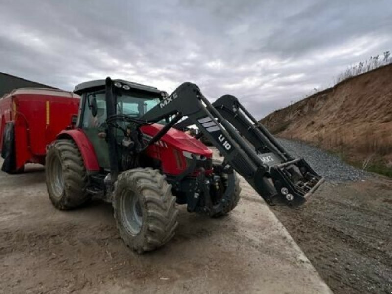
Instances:
[[[73,140],[57,140],[46,155],[46,186],[57,209],[76,208],[90,199],[87,173],[79,148]]]

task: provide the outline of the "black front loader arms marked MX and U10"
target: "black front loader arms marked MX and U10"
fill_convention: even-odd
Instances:
[[[157,122],[172,117],[147,143],[150,145],[187,116],[175,127],[195,124],[224,156],[224,163],[241,174],[267,203],[304,203],[323,178],[303,159],[290,156],[268,130],[244,110],[234,96],[223,96],[213,105],[195,84],[183,83],[140,120]]]

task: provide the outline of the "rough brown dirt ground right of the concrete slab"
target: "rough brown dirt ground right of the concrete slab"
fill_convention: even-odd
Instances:
[[[328,182],[305,206],[272,210],[334,293],[392,293],[391,180]]]

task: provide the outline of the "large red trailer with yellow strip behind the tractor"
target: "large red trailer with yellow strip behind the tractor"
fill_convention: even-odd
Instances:
[[[72,124],[80,97],[56,89],[16,89],[0,99],[2,170],[21,172],[26,163],[45,164],[47,145]]]

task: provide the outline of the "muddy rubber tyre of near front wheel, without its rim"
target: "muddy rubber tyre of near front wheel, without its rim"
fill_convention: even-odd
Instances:
[[[137,235],[130,234],[123,226],[120,203],[122,191],[131,188],[142,197],[145,208],[141,231]],[[178,225],[176,198],[172,195],[172,185],[166,176],[152,168],[136,168],[119,175],[114,192],[114,217],[125,244],[138,253],[155,250],[174,236]],[[142,204],[142,203],[141,203]]]

